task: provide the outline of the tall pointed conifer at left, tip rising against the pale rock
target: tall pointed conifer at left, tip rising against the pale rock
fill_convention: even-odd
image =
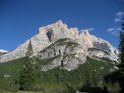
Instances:
[[[31,90],[34,83],[34,77],[33,77],[34,66],[31,63],[32,59],[30,58],[32,53],[33,53],[32,44],[31,44],[31,41],[29,41],[29,45],[26,53],[27,60],[23,65],[23,68],[20,72],[20,77],[19,77],[20,90]]]

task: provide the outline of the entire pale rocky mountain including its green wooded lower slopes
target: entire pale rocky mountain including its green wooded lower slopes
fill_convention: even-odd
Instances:
[[[0,55],[0,91],[21,90],[19,82],[32,78],[29,90],[41,93],[76,93],[68,91],[87,84],[103,89],[104,77],[118,70],[118,50],[88,30],[79,32],[58,21]]]

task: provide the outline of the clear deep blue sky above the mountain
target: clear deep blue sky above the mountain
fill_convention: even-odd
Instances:
[[[0,0],[0,49],[14,50],[38,28],[63,20],[69,27],[93,28],[92,34],[118,47],[118,12],[124,0]]]

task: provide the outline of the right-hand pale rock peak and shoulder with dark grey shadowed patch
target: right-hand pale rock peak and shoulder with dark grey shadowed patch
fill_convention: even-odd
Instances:
[[[90,35],[88,30],[84,30],[79,35],[79,43],[88,48],[89,56],[98,58],[108,58],[111,61],[118,61],[118,50],[114,48],[108,41]],[[92,49],[92,51],[91,51]]]

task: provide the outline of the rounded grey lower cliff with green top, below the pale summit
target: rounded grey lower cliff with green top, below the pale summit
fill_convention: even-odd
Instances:
[[[76,69],[86,62],[87,50],[72,39],[59,39],[37,54],[38,58],[48,61],[43,71],[60,67],[68,71]]]

